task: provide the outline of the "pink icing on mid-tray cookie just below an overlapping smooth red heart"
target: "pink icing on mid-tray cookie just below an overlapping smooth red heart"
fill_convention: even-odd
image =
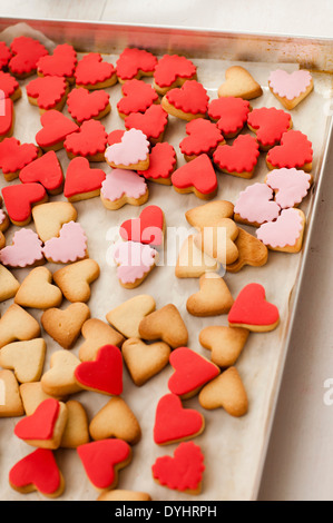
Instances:
[[[117,276],[123,284],[134,284],[145,276],[155,264],[157,251],[138,241],[120,241],[114,251],[118,265]]]

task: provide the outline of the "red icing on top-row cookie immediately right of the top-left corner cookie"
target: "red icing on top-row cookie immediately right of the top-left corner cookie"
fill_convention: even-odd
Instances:
[[[77,65],[77,53],[69,43],[56,47],[53,55],[38,60],[37,72],[43,76],[67,77],[74,76]]]

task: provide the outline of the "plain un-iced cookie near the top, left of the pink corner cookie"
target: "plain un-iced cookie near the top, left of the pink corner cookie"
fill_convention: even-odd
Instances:
[[[225,71],[225,82],[217,91],[218,98],[232,96],[244,100],[252,100],[262,93],[259,83],[242,66],[232,66]]]

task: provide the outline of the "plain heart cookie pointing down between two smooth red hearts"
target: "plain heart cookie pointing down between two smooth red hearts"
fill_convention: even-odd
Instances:
[[[133,382],[140,387],[169,363],[170,347],[164,342],[146,344],[134,337],[124,342],[121,353]]]

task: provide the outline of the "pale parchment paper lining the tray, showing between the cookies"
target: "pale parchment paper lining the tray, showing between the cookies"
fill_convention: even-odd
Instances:
[[[0,34],[0,40],[8,43],[16,36],[30,34],[45,42],[50,51],[55,43],[47,40],[42,34],[32,31],[26,24],[18,24],[7,29]],[[94,51],[94,49],[91,49]],[[80,56],[79,56],[80,58]],[[104,57],[106,60],[116,63],[117,56]],[[198,79],[207,89],[210,99],[217,98],[217,88],[224,81],[225,70],[236,62],[223,60],[194,60],[198,67]],[[278,101],[267,88],[270,71],[277,67],[274,63],[237,62],[244,65],[255,79],[263,86],[262,97],[252,100],[255,107],[282,108]],[[296,65],[283,65],[287,71],[297,68]],[[294,129],[298,129],[313,144],[314,162],[313,177],[314,185],[319,176],[320,159],[323,152],[326,138],[327,122],[327,99],[332,95],[331,78],[324,75],[314,76],[314,92],[311,93],[292,114]],[[33,77],[31,77],[33,78]],[[21,81],[22,98],[14,103],[16,127],[13,136],[21,142],[35,142],[36,132],[40,129],[40,116],[37,107],[31,106],[27,100],[25,85],[31,80]],[[150,81],[146,79],[145,81]],[[111,114],[105,117],[101,122],[106,131],[124,129],[124,121],[118,116],[116,103],[121,97],[121,86],[108,88],[110,93]],[[63,114],[68,115],[67,109]],[[185,160],[179,151],[178,144],[185,137],[186,122],[169,117],[164,140],[169,141],[177,151],[178,166]],[[58,158],[66,172],[69,160],[65,150],[59,151]],[[107,164],[94,164],[92,167],[100,167],[106,172],[110,170]],[[218,195],[216,199],[227,199],[235,203],[241,190],[255,181],[263,181],[267,168],[265,155],[261,154],[259,162],[252,180],[244,180],[233,176],[218,174]],[[18,180],[12,184],[17,184]],[[0,177],[0,188],[6,185],[3,177]],[[62,195],[51,197],[50,200],[65,199]],[[308,213],[312,200],[312,191],[302,203],[301,208]],[[184,237],[193,229],[185,219],[185,211],[189,208],[202,205],[195,195],[179,195],[172,186],[149,184],[149,201],[146,205],[156,204],[161,207],[166,216],[167,227],[182,227]],[[91,258],[100,265],[101,274],[97,282],[92,284],[89,307],[91,317],[106,320],[106,314],[138,294],[150,294],[156,299],[157,308],[168,303],[174,303],[189,333],[188,346],[206,357],[210,357],[209,351],[204,349],[198,342],[198,334],[202,328],[209,325],[227,325],[227,316],[213,318],[195,318],[186,310],[186,300],[189,295],[198,290],[198,279],[177,279],[175,277],[175,266],[164,265],[156,267],[143,285],[133,290],[124,289],[116,276],[116,267],[109,265],[109,248],[114,237],[115,227],[128,218],[135,218],[143,210],[143,207],[125,206],[117,211],[105,209],[99,197],[91,200],[75,204],[78,210],[78,221],[82,225],[88,236],[88,249]],[[29,225],[33,229],[33,224]],[[255,234],[253,227],[245,227],[246,230]],[[11,244],[11,238],[17,227],[11,228],[6,234],[7,245]],[[166,238],[166,251],[168,259],[176,260],[177,251],[168,244]],[[169,251],[168,251],[169,249]],[[202,494],[190,496],[177,491],[172,491],[157,485],[151,476],[151,465],[161,455],[173,455],[176,444],[164,447],[157,446],[153,441],[153,426],[155,409],[159,398],[168,393],[167,382],[173,373],[170,366],[160,374],[151,378],[143,387],[136,387],[131,382],[127,369],[124,369],[124,393],[123,397],[137,416],[143,431],[141,441],[133,447],[133,461],[129,466],[119,473],[119,489],[139,490],[148,492],[153,500],[249,500],[255,495],[256,477],[263,452],[266,443],[268,420],[275,399],[276,378],[284,361],[284,336],[287,329],[288,298],[296,282],[297,272],[302,254],[270,253],[268,263],[261,268],[245,267],[237,274],[225,275],[234,297],[248,283],[257,282],[265,286],[267,299],[274,303],[281,314],[281,324],[272,333],[251,334],[243,354],[236,363],[236,367],[242,376],[248,394],[249,411],[242,418],[233,418],[222,408],[216,411],[205,411],[199,404],[197,396],[186,401],[186,407],[193,407],[203,413],[206,422],[204,433],[194,438],[200,445],[205,455],[205,473],[203,480]],[[50,270],[59,268],[58,265],[47,264]],[[27,269],[13,270],[14,276],[22,282],[28,274]],[[0,304],[1,315],[6,312],[12,300]],[[61,308],[69,305],[66,300]],[[39,319],[41,313],[36,309],[29,312]],[[61,347],[53,342],[46,333],[42,333],[47,342],[47,358],[45,371],[49,368],[50,355]],[[72,352],[78,354],[82,343],[79,338]],[[91,392],[81,392],[71,396],[77,398],[85,406],[89,421],[105,405],[109,397]],[[13,491],[8,483],[8,473],[17,461],[33,451],[25,442],[13,435],[13,428],[19,418],[4,418],[0,421],[0,499],[1,500],[47,500],[39,493],[31,493],[28,496],[20,495]],[[96,500],[97,491],[88,481],[82,464],[75,450],[57,450],[57,462],[62,471],[66,481],[66,490],[59,500]]]

